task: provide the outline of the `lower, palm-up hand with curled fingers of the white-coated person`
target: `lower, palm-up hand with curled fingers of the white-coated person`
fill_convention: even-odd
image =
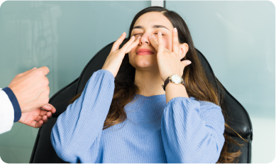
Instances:
[[[46,124],[48,119],[52,117],[52,114],[55,114],[55,107],[51,104],[46,104],[42,108],[35,109],[34,111],[28,111],[22,113],[21,119],[18,121],[22,124],[26,124],[33,128],[40,128],[43,124]]]

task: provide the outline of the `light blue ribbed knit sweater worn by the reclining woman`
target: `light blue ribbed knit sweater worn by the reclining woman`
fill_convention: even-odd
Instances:
[[[60,114],[51,133],[57,155],[70,163],[216,163],[224,143],[220,106],[165,94],[125,106],[126,121],[103,129],[114,75],[94,72],[82,95]]]

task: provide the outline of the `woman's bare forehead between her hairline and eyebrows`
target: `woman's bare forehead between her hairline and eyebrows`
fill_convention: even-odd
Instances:
[[[140,16],[136,23],[134,23],[134,26],[143,26],[143,27],[152,27],[153,25],[163,25],[166,26],[169,29],[172,29],[172,23],[170,23],[170,20],[163,16],[160,12],[149,12],[144,13],[142,16]]]

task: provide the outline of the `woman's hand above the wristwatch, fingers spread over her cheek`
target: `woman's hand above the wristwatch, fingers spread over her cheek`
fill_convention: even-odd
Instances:
[[[176,28],[175,28],[176,29]],[[189,60],[180,61],[179,51],[179,42],[177,31],[172,30],[172,51],[167,50],[164,47],[162,40],[162,33],[158,33],[158,38],[155,38],[154,35],[149,36],[150,44],[153,45],[157,53],[158,67],[161,79],[163,82],[170,77],[171,75],[177,74],[180,77],[183,75],[184,67],[191,64]]]

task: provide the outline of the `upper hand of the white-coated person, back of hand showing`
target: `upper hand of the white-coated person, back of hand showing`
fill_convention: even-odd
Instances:
[[[48,104],[50,88],[49,80],[45,76],[48,72],[48,67],[33,68],[16,75],[9,84],[9,88],[16,95],[22,114]]]

